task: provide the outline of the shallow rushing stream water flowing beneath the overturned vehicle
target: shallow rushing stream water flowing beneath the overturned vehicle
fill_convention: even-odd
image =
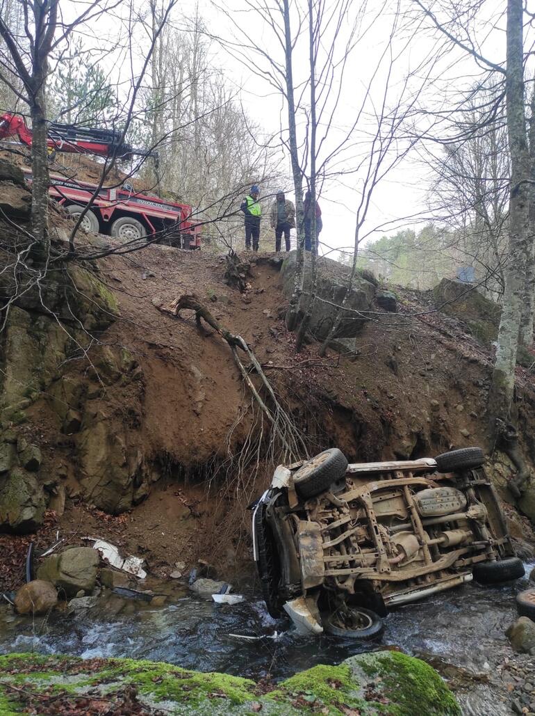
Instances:
[[[532,566],[526,565],[527,574]],[[158,609],[112,595],[86,611],[32,620],[14,616],[6,606],[0,609],[0,652],[147,658],[259,679],[395,646],[453,678],[465,715],[506,716],[511,710],[496,665],[511,653],[504,632],[516,618],[514,594],[525,588],[522,581],[491,589],[466,584],[389,614],[383,636],[363,643],[298,637],[287,623],[271,619],[254,597],[235,606],[217,605],[182,588],[171,604]],[[263,636],[251,642],[231,634]]]

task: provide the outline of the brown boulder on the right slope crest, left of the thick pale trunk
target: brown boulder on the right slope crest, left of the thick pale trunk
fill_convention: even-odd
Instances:
[[[442,279],[433,289],[436,307],[463,321],[471,334],[487,345],[496,340],[501,308],[463,281]]]

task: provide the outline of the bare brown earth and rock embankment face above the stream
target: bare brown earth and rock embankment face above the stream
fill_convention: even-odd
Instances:
[[[313,337],[295,354],[280,264],[257,257],[245,294],[223,282],[223,257],[157,245],[72,266],[62,281],[51,275],[51,296],[64,296],[67,285],[74,291],[69,314],[64,299],[50,299],[48,312],[19,302],[3,334],[0,448],[15,450],[5,448],[13,460],[0,489],[9,470],[26,471],[36,524],[51,530],[59,521],[74,542],[84,533],[110,538],[147,556],[155,571],[193,554],[235,564],[237,543],[246,543],[245,505],[278,456],[227,343],[200,332],[191,312],[162,311],[183,294],[245,338],[310,453],[338,446],[350,461],[367,461],[467,445],[490,452],[491,347],[468,333],[464,316],[398,289],[398,312],[388,313],[370,304],[372,286],[368,321],[342,347],[346,354],[319,358]],[[531,435],[534,380],[522,368],[518,397]],[[39,449],[36,471],[21,465],[18,440]],[[533,460],[531,440],[523,448]],[[489,470],[514,515],[511,463],[495,453]]]

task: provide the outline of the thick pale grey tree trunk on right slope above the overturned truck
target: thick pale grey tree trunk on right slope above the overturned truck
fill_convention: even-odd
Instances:
[[[511,196],[509,200],[509,256],[506,269],[504,307],[494,360],[489,418],[491,431],[496,418],[509,420],[514,395],[516,352],[529,251],[529,153],[524,112],[522,0],[507,3],[507,133],[511,153]]]

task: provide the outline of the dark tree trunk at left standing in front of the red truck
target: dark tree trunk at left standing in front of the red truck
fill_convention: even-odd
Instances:
[[[44,79],[46,72],[36,77],[36,87],[31,97],[31,233],[41,245],[48,241],[49,229],[49,165],[46,140],[46,105]]]

